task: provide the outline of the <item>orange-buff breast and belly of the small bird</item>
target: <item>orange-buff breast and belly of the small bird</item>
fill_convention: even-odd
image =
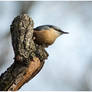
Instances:
[[[51,45],[56,39],[56,35],[53,30],[34,31],[34,36],[36,37],[35,40],[38,44]]]

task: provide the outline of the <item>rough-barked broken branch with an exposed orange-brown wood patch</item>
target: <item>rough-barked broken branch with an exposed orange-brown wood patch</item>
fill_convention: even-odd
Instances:
[[[33,20],[26,14],[17,16],[11,25],[14,63],[0,76],[0,91],[16,91],[43,67],[48,53],[34,43]]]

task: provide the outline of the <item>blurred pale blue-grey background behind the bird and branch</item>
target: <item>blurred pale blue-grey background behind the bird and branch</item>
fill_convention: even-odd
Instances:
[[[92,90],[92,2],[0,1],[0,74],[13,63],[10,25],[27,13],[34,27],[51,24],[69,32],[46,48],[49,57],[43,69],[20,91]]]

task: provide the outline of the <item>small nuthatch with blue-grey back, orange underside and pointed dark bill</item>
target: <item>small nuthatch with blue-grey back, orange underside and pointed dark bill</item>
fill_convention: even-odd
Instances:
[[[48,47],[62,34],[68,34],[68,32],[64,32],[53,25],[42,25],[34,28],[34,41],[39,45]]]

